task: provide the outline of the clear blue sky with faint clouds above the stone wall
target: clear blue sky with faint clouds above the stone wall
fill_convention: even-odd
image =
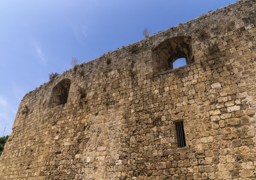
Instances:
[[[98,58],[234,0],[0,0],[0,137],[23,96],[53,72]]]

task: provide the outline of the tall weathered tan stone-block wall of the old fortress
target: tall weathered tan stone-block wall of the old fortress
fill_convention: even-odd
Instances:
[[[256,179],[255,5],[236,2],[25,95],[0,179]],[[188,64],[171,69],[180,57]]]

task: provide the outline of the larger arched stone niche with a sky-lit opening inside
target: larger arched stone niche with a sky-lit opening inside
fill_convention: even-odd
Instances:
[[[153,51],[153,69],[161,72],[173,69],[173,62],[185,58],[186,64],[194,63],[191,37],[173,37],[160,43]]]

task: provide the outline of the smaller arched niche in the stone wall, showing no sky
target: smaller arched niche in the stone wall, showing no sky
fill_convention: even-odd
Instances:
[[[70,92],[70,85],[70,79],[63,79],[54,86],[51,92],[49,107],[55,107],[67,103]]]

